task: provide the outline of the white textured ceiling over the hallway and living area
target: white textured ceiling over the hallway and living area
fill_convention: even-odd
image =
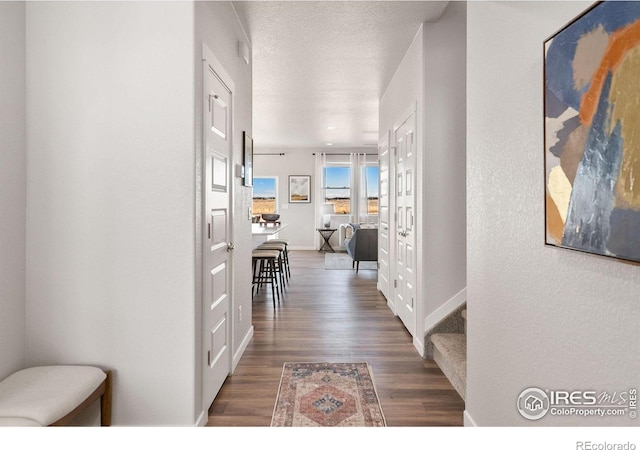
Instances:
[[[378,100],[420,25],[437,21],[447,2],[233,4],[253,50],[260,151],[375,148]]]

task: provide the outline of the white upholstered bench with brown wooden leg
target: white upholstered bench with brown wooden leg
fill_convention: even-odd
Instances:
[[[0,381],[0,426],[62,426],[100,399],[100,424],[111,425],[111,371],[39,366]]]

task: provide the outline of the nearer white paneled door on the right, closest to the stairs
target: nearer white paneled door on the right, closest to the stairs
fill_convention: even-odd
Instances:
[[[395,130],[396,144],[396,280],[395,310],[409,333],[416,332],[416,235],[415,235],[415,113]]]

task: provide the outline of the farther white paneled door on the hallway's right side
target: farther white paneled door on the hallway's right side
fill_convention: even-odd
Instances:
[[[390,245],[389,229],[389,175],[390,175],[390,152],[389,152],[389,132],[384,134],[378,146],[378,165],[380,167],[380,182],[378,186],[379,220],[378,225],[378,290],[387,298],[393,301],[389,292],[390,279]]]

